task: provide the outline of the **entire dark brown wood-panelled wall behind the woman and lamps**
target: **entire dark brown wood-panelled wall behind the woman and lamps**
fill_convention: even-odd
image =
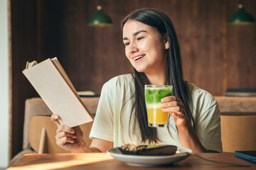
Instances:
[[[102,5],[112,27],[94,28],[87,18]],[[256,1],[244,0],[256,19]],[[220,96],[227,88],[256,86],[256,26],[227,26],[238,0],[11,0],[11,155],[22,149],[26,98],[38,96],[21,73],[26,61],[58,57],[78,91],[100,94],[105,81],[131,72],[119,21],[137,8],[159,8],[174,23],[184,76]]]

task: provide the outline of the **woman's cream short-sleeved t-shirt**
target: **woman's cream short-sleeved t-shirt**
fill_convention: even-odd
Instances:
[[[192,93],[192,115],[199,140],[206,149],[222,152],[218,103],[207,91],[199,89],[188,81],[186,81],[186,84],[188,90]],[[128,143],[147,145],[141,142],[139,125],[137,125],[135,132],[132,132],[132,126],[129,128],[132,104],[134,103],[132,94],[134,94],[134,81],[131,74],[114,77],[104,84],[90,138],[95,137],[114,142],[114,147]],[[131,121],[134,123],[133,120]],[[133,125],[132,123],[131,125]],[[161,140],[159,145],[181,147],[174,118],[171,116],[169,128],[171,135],[169,135],[167,128],[157,128],[157,134],[159,140]]]

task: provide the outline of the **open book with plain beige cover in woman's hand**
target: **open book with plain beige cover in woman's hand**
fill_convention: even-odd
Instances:
[[[36,89],[50,111],[60,115],[59,122],[70,128],[93,120],[57,58],[41,63],[27,62],[23,74]]]

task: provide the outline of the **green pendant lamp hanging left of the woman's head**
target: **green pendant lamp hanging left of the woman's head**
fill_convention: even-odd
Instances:
[[[97,13],[91,16],[87,21],[88,26],[112,26],[109,16],[102,12],[102,6],[97,6]]]

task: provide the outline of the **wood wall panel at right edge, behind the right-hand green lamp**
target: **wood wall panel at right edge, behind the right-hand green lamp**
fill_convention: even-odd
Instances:
[[[230,16],[237,10],[238,1],[228,1]],[[245,11],[256,20],[256,1],[243,1]],[[228,88],[256,87],[256,24],[228,26]]]

